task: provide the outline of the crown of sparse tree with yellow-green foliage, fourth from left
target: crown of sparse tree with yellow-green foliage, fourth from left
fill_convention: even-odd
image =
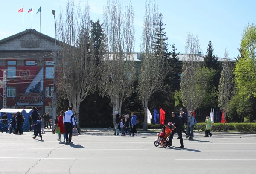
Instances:
[[[198,108],[207,92],[207,85],[214,72],[202,67],[198,53],[200,44],[198,36],[188,33],[185,44],[186,57],[183,60],[180,81],[181,99],[187,110]]]

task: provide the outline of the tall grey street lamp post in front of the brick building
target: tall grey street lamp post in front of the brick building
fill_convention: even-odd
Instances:
[[[52,95],[52,129],[54,129],[54,119],[56,117],[56,107],[57,107],[57,77],[56,77],[56,67],[57,67],[57,28],[55,19],[55,10],[52,10],[55,22],[55,49],[54,49],[54,66],[53,66],[53,95]]]

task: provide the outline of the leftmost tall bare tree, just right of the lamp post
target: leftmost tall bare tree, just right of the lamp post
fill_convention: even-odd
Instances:
[[[77,113],[80,103],[96,88],[96,66],[93,44],[90,41],[90,6],[81,11],[73,0],[68,0],[65,17],[60,14],[58,37],[63,42],[58,60],[58,87],[67,93],[70,106]]]

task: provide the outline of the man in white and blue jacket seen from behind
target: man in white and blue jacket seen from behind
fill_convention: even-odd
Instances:
[[[63,124],[65,127],[65,132],[66,132],[66,143],[71,142],[72,138],[72,129],[75,127],[75,116],[74,113],[72,112],[73,107],[68,107],[68,111],[65,112],[64,117],[63,117]]]

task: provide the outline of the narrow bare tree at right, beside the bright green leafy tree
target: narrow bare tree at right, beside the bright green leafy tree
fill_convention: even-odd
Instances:
[[[224,61],[222,63],[223,70],[221,72],[220,84],[218,86],[219,97],[218,97],[218,106],[221,111],[224,113],[224,131],[226,131],[226,118],[227,118],[227,109],[228,104],[233,96],[233,87],[234,84],[232,82],[233,78],[233,67],[228,57],[227,48],[224,53]]]

